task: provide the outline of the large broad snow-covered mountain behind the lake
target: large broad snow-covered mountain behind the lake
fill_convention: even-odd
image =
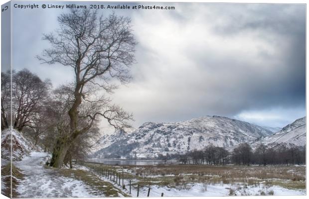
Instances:
[[[227,149],[273,134],[245,121],[205,116],[183,122],[146,122],[132,133],[106,135],[93,157],[154,157],[159,153],[184,153],[209,144]]]

